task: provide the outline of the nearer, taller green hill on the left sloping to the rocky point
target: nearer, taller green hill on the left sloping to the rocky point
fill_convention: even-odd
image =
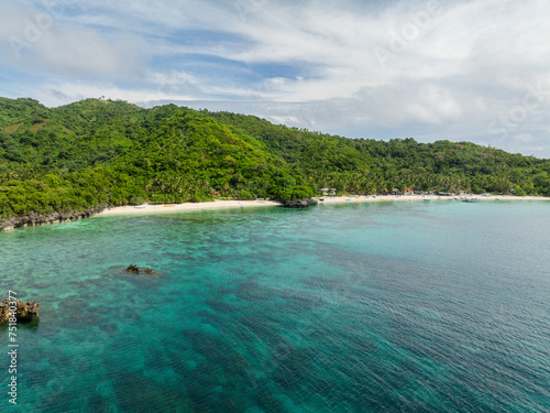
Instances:
[[[87,99],[47,109],[2,99],[0,217],[98,205],[314,194],[301,174],[244,133],[176,106]]]

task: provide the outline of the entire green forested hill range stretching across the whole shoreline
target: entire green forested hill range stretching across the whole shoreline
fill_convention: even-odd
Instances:
[[[473,143],[346,139],[228,112],[0,98],[0,219],[143,202],[447,189],[550,195],[550,161]]]

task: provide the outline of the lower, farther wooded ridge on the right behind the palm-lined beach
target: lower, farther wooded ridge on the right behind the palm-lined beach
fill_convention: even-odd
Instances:
[[[418,143],[346,139],[274,126],[252,116],[210,113],[235,133],[249,133],[295,165],[318,187],[350,193],[447,189],[550,195],[550,160],[510,154],[471,142]]]

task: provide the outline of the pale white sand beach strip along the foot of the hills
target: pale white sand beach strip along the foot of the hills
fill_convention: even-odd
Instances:
[[[537,196],[509,196],[509,195],[491,195],[491,196],[468,196],[475,197],[481,202],[485,200],[550,200],[549,197]],[[459,198],[459,197],[457,197]],[[316,198],[319,199],[319,198]],[[407,200],[446,200],[453,199],[450,196],[437,195],[376,195],[376,196],[326,196],[322,197],[322,204],[339,204],[339,203],[381,203],[381,202],[407,202]],[[141,205],[141,206],[123,206],[106,209],[99,215],[136,215],[136,214],[154,214],[154,213],[170,213],[182,210],[200,210],[200,209],[222,209],[222,208],[249,208],[262,206],[279,206],[278,202],[274,200],[215,200],[211,203],[186,203],[186,204],[166,204],[166,205]]]

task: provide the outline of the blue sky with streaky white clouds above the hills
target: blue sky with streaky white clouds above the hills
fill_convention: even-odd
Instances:
[[[0,96],[550,157],[548,0],[0,0]]]

